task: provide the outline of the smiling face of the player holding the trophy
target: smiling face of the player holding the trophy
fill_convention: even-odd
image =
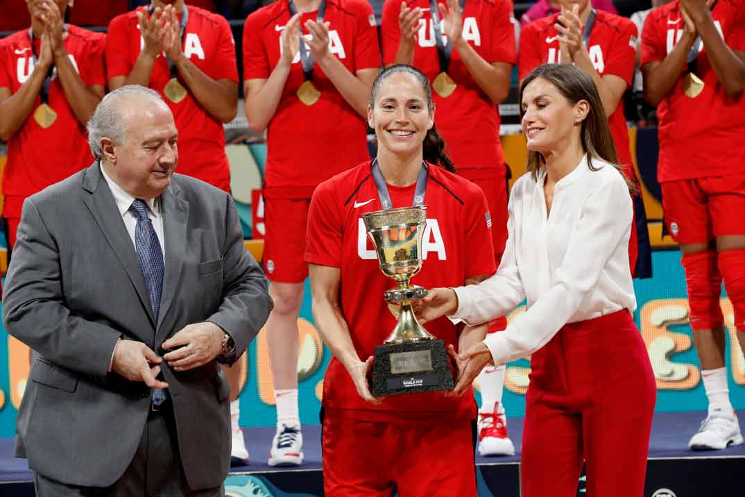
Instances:
[[[434,125],[434,110],[416,77],[407,72],[390,75],[378,86],[373,105],[367,109],[367,121],[378,137],[378,149],[404,156],[422,149]]]

